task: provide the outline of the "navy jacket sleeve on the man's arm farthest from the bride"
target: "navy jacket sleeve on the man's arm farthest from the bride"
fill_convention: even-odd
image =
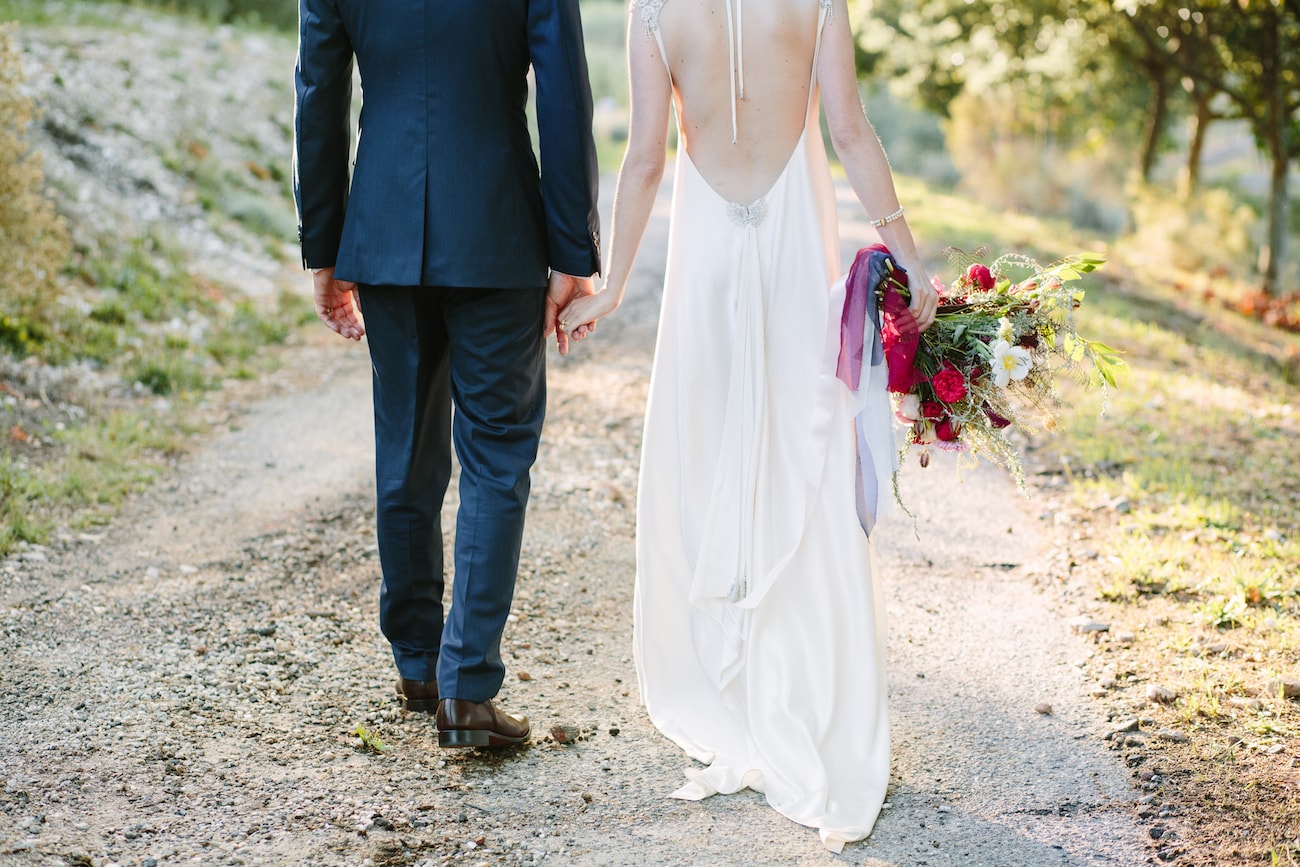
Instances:
[[[294,201],[304,268],[335,263],[347,208],[352,44],[335,0],[299,0]]]

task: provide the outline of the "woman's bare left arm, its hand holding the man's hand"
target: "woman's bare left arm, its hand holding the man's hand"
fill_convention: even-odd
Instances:
[[[659,56],[659,45],[646,35],[634,5],[628,16],[628,149],[614,190],[604,285],[597,294],[575,300],[560,313],[560,322],[576,339],[589,334],[595,320],[612,313],[623,302],[667,159],[672,82]]]

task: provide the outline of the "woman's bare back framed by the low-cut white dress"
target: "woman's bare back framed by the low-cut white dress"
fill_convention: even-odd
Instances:
[[[659,8],[682,146],[724,199],[760,198],[798,143],[818,8],[819,0],[666,0]]]

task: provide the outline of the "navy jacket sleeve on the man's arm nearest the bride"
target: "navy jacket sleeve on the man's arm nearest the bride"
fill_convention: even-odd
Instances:
[[[578,0],[528,5],[550,266],[586,277],[601,270],[599,169]]]

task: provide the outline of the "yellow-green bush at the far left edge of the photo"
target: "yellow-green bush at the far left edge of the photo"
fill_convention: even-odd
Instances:
[[[69,242],[26,142],[35,109],[22,83],[17,27],[0,26],[0,350],[31,355],[49,337]]]

